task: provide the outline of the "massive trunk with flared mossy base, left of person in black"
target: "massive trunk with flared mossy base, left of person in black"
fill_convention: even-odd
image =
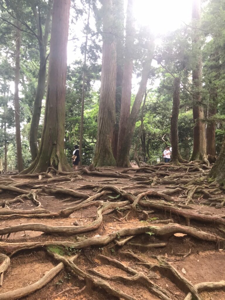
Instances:
[[[70,0],[54,0],[49,55],[49,77],[44,126],[38,156],[23,173],[40,173],[52,166],[70,171],[64,153],[67,38]]]

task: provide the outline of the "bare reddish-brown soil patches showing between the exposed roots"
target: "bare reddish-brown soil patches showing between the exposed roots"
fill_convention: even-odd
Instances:
[[[121,168],[113,168],[116,171],[122,171]],[[113,172],[113,171],[107,171]],[[135,173],[128,173],[131,176],[137,175]],[[145,173],[138,173],[138,175],[145,175]],[[86,184],[113,184],[116,187],[126,187],[133,183],[129,179],[116,179],[113,177],[97,177],[97,176],[87,176],[82,175],[83,179],[77,180],[73,183],[70,182],[58,182],[53,183],[49,186],[51,187],[64,187],[69,189],[74,189],[79,192],[87,193],[88,195],[94,195],[96,190],[91,188],[79,188]],[[22,181],[18,179],[18,181]],[[25,181],[25,180],[24,180]],[[27,181],[27,179],[26,179]],[[38,184],[38,183],[37,183]],[[22,189],[29,190],[29,188],[21,187]],[[151,189],[157,191],[168,189],[165,185],[156,185]],[[143,191],[146,191],[146,188],[130,188],[128,192],[134,193],[137,195]],[[1,200],[10,200],[14,199],[17,195],[15,193],[4,192],[0,194]],[[116,195],[115,195],[116,196]],[[180,194],[172,195],[174,200],[180,199]],[[39,195],[38,200],[41,202],[41,208],[48,209],[51,212],[57,212],[64,208],[70,207],[71,203],[77,199],[72,197],[66,201],[61,202],[64,199],[69,197],[66,196],[49,196],[44,193]],[[110,199],[108,196],[102,197],[100,200]],[[24,200],[24,203],[14,203],[10,208],[15,209],[33,209],[35,205],[30,200]],[[116,200],[115,200],[116,201]],[[196,203],[192,204],[192,207],[196,211],[205,211],[210,212],[211,214],[225,214],[225,208],[216,209],[215,207],[209,207],[207,205],[200,204],[200,199],[196,199]],[[73,204],[72,204],[73,206]],[[14,226],[18,224],[26,223],[43,223],[52,226],[73,226],[73,222],[79,221],[83,225],[87,225],[93,220],[95,220],[97,207],[90,206],[87,209],[82,209],[74,212],[68,218],[37,218],[37,217],[13,217],[13,218],[1,218],[0,217],[0,228],[5,228],[9,226]],[[113,231],[117,231],[122,228],[134,228],[137,226],[146,226],[146,222],[140,220],[140,216],[135,216],[128,218],[128,222],[125,220],[119,221],[116,218],[120,218],[117,214],[106,215],[107,212],[104,212],[103,222],[98,229],[87,232],[85,234],[78,235],[78,238],[88,238],[95,235],[105,235]],[[169,213],[155,211],[150,215],[151,218],[158,218],[159,220],[165,220],[170,218]],[[185,220],[182,217],[174,216],[173,220],[176,223],[186,225]],[[153,224],[152,221],[149,221],[149,226],[164,226],[163,223]],[[197,221],[191,221],[190,226],[206,231],[212,234],[220,235],[225,237],[224,233],[219,230],[219,226],[214,226],[214,224],[199,223]],[[77,241],[77,236],[53,236],[46,235],[38,231],[26,231],[17,232],[10,235],[7,242],[24,242],[24,241]],[[131,241],[133,243],[139,244],[148,244],[148,243],[160,243],[162,242],[157,236],[143,234],[140,236],[134,237]],[[106,264],[101,262],[98,259],[98,254],[104,254],[115,258],[122,262],[124,265],[127,265],[133,268],[136,271],[144,273],[147,277],[156,283],[161,288],[170,292],[171,299],[183,300],[186,293],[181,290],[176,282],[173,282],[171,278],[165,277],[159,274],[158,271],[152,272],[149,268],[144,267],[138,264],[138,261],[131,259],[128,256],[122,255],[119,250],[127,251],[132,250],[140,258],[152,263],[158,264],[157,259],[152,258],[151,255],[163,255],[164,258],[170,262],[174,268],[176,268],[187,280],[191,283],[201,283],[209,281],[220,281],[225,280],[225,252],[223,250],[223,245],[216,245],[212,242],[201,241],[196,238],[192,238],[183,234],[176,234],[168,240],[168,244],[163,248],[143,248],[138,246],[133,246],[131,244],[125,244],[122,248],[118,248],[114,243],[108,244],[103,248],[88,248],[80,252],[79,258],[76,260],[76,264],[82,270],[89,272],[89,269],[94,269],[100,272],[103,275],[113,277],[115,275],[122,276],[125,279],[129,278],[131,275],[125,271],[122,271],[119,268],[116,268],[112,264]],[[220,250],[219,250],[219,249]],[[183,258],[185,254],[191,251],[190,255],[186,258]],[[70,253],[72,254],[72,253]],[[44,276],[46,271],[49,271],[57,264],[44,250],[26,250],[23,252],[17,253],[11,258],[10,268],[4,273],[3,286],[0,288],[0,293],[18,289],[19,287],[27,286],[41,277]],[[186,273],[182,273],[182,269]],[[69,275],[68,275],[69,274]],[[103,278],[104,279],[104,278]],[[120,289],[128,295],[134,297],[135,299],[145,299],[145,300],[158,300],[158,296],[154,295],[140,282],[128,282],[123,280],[122,282],[107,280],[108,283],[115,289]],[[64,269],[61,271],[50,283],[44,286],[41,290],[34,292],[31,295],[28,295],[23,300],[104,300],[104,299],[117,299],[113,296],[108,295],[101,289],[93,288],[87,289],[82,292],[80,295],[77,295],[79,289],[85,285],[84,280],[81,277],[74,276],[70,273],[69,270]],[[73,288],[66,290],[68,288]],[[65,290],[65,291],[64,291]],[[61,291],[64,291],[61,295],[57,294]],[[224,291],[213,291],[213,292],[202,292],[201,297],[203,300],[223,300],[225,299]]]

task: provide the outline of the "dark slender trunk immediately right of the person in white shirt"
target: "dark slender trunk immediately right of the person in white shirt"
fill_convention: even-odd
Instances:
[[[174,78],[173,82],[173,109],[172,118],[170,122],[170,134],[171,134],[171,146],[172,146],[172,161],[173,164],[179,164],[184,162],[179,151],[179,139],[178,139],[178,117],[180,108],[180,78]]]

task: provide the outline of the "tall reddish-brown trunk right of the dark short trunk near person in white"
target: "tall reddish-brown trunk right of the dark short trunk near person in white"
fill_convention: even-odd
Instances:
[[[205,123],[202,104],[202,53],[201,53],[201,31],[199,22],[201,20],[201,0],[192,0],[192,50],[196,57],[192,70],[193,83],[193,152],[190,160],[201,160],[206,155]]]

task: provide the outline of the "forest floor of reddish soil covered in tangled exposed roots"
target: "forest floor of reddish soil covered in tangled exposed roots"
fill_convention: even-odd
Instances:
[[[209,170],[1,175],[0,300],[225,299],[225,189]]]

